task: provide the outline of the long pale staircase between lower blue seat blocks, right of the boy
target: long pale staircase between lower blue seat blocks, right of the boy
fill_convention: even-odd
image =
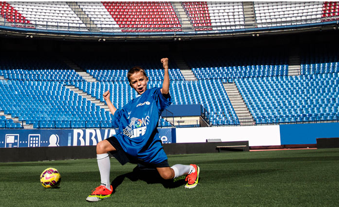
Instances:
[[[224,83],[223,85],[234,108],[235,114],[239,118],[240,125],[255,124],[253,116],[249,112],[249,109],[247,108],[247,105],[235,83]]]

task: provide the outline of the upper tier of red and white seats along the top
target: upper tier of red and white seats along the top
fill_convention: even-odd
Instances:
[[[6,2],[1,27],[70,32],[232,32],[326,23],[339,19],[335,2]],[[245,18],[245,13],[247,18]]]

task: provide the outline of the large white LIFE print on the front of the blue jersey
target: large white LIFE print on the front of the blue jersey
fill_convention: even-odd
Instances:
[[[130,119],[130,123],[126,128],[123,129],[123,134],[129,138],[135,138],[143,136],[146,133],[147,125],[150,123],[150,117],[146,116],[145,118],[135,118]]]

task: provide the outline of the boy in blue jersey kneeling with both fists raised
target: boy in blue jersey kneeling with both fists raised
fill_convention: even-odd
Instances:
[[[170,167],[167,155],[158,135],[157,125],[161,112],[171,104],[170,76],[168,59],[161,59],[165,69],[162,88],[147,89],[148,77],[140,67],[128,71],[130,86],[138,96],[117,110],[109,99],[109,90],[104,93],[105,101],[113,114],[113,122],[118,132],[96,146],[97,162],[101,185],[92,191],[87,201],[95,202],[108,198],[113,188],[109,181],[110,161],[108,152],[121,163],[138,163],[155,168],[164,179],[173,179],[187,175],[185,188],[194,188],[198,184],[199,167],[195,164],[175,164]]]

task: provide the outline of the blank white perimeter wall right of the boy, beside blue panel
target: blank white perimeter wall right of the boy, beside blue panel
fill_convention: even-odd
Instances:
[[[249,146],[281,145],[279,125],[176,128],[176,143],[248,141]]]

